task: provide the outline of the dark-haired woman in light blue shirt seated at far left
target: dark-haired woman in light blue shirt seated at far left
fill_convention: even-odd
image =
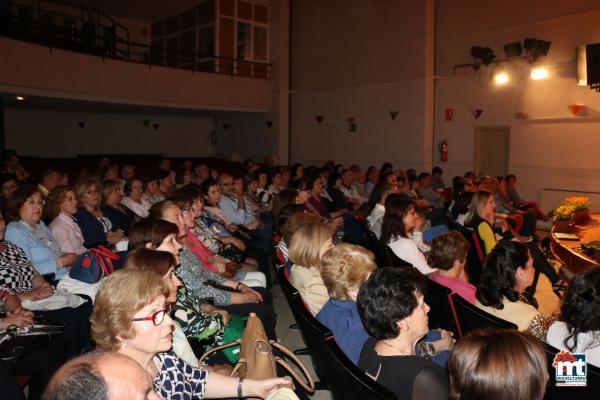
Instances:
[[[63,254],[60,245],[41,220],[44,202],[40,191],[32,185],[18,188],[8,203],[10,222],[6,240],[20,247],[41,275],[54,274],[62,278],[77,258],[75,253]]]

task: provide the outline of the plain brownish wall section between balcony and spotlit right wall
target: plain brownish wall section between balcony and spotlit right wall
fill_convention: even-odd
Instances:
[[[432,5],[294,3],[292,161],[429,167]],[[395,121],[389,111],[399,112]]]

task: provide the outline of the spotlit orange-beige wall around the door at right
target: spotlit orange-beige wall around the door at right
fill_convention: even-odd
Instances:
[[[600,42],[597,1],[516,1],[486,3],[437,1],[435,143],[446,139],[449,161],[440,163],[447,181],[474,168],[476,127],[511,129],[510,172],[517,174],[522,195],[539,199],[543,188],[600,190],[600,94],[576,85],[575,48]],[[471,62],[471,46],[492,47],[504,57],[503,45],[526,37],[550,40],[545,60],[550,77],[529,79],[524,62],[507,67],[511,81],[504,87],[489,83],[490,69],[480,76],[451,76],[456,64]],[[472,71],[470,74],[473,74]],[[568,105],[583,103],[588,115],[574,117]],[[454,120],[444,120],[444,110]],[[470,109],[482,109],[474,120]],[[525,112],[528,119],[517,119]],[[436,163],[439,153],[436,151]]]

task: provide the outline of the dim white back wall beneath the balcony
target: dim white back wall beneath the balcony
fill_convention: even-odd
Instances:
[[[77,154],[213,155],[212,118],[164,115],[4,111],[6,147],[27,156]],[[160,128],[145,127],[144,119]],[[78,121],[85,122],[81,129]]]

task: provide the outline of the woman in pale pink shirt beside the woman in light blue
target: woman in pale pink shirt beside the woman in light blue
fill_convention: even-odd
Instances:
[[[50,191],[44,214],[52,220],[48,227],[63,253],[81,254],[87,251],[81,229],[73,217],[76,212],[77,197],[72,187],[58,186]]]

